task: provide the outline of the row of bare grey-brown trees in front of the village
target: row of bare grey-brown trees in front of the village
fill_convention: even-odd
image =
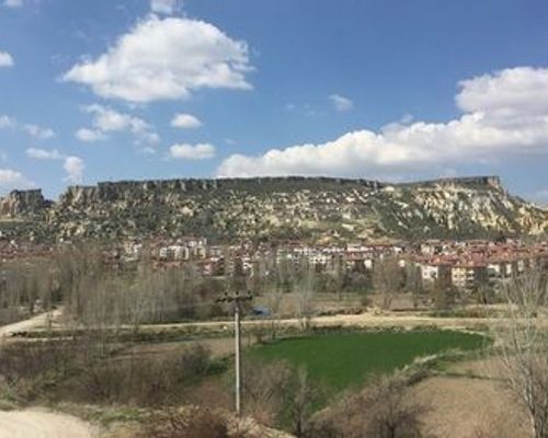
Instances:
[[[243,276],[241,261],[229,263],[232,277],[203,277],[189,262],[182,267],[155,269],[145,255],[135,265],[105,263],[99,246],[71,247],[50,258],[34,258],[3,264],[0,272],[0,309],[24,307],[33,313],[65,303],[67,311],[85,324],[132,324],[174,322],[222,314],[215,299],[226,288],[248,289],[267,298],[272,314],[281,316],[284,298],[298,297],[295,312],[308,325],[318,296],[331,295],[342,301],[351,295],[362,303],[372,295],[384,309],[390,309],[396,297],[407,295],[411,306],[434,304],[450,308],[459,293],[447,278],[441,277],[430,289],[423,287],[421,273],[412,263],[404,266],[396,256],[376,261],[372,270],[356,265],[347,269],[340,260],[329,269],[318,269],[306,257],[277,261],[263,257],[254,263],[252,274]],[[490,291],[478,289],[479,299],[488,300]],[[482,298],[481,298],[481,297]],[[0,314],[1,318],[1,314]]]

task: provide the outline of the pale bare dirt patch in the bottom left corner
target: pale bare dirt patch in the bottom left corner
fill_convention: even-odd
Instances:
[[[96,430],[64,414],[28,410],[0,412],[0,438],[96,438]]]

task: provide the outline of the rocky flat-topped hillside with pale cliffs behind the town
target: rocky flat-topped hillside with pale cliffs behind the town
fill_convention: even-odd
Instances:
[[[0,199],[4,235],[38,241],[199,234],[238,240],[478,238],[540,234],[548,210],[495,176],[409,184],[327,177],[167,180],[72,186]]]

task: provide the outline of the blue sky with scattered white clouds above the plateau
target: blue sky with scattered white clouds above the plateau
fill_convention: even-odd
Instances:
[[[0,193],[500,175],[548,201],[545,0],[0,0]]]

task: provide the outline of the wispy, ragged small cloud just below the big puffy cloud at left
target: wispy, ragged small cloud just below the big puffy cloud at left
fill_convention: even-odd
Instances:
[[[109,134],[127,131],[134,135],[138,143],[157,145],[160,142],[160,136],[155,128],[142,118],[96,104],[84,106],[83,111],[92,114],[93,128],[77,130],[76,137],[81,141],[101,141],[105,140]]]

